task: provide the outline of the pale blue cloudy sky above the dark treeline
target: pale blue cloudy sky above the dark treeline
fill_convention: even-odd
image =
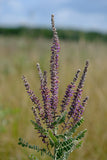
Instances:
[[[107,0],[0,0],[0,26],[56,27],[107,33]]]

